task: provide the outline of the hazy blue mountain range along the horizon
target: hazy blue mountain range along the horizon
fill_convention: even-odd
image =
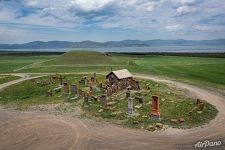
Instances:
[[[0,44],[0,49],[54,49],[54,48],[101,48],[101,47],[151,47],[151,46],[225,46],[225,39],[215,40],[123,40],[123,41],[33,41],[23,44]]]

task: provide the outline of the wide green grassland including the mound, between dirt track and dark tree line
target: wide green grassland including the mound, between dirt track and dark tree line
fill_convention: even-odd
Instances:
[[[111,69],[127,68],[132,73],[162,76],[202,87],[214,88],[225,93],[225,58],[210,58],[210,56],[135,56],[128,54],[107,56],[103,53],[88,51],[72,51],[60,56],[0,57],[0,73],[108,73]]]

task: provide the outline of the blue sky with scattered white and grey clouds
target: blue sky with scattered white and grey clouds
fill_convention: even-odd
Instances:
[[[0,43],[225,38],[225,0],[0,0]]]

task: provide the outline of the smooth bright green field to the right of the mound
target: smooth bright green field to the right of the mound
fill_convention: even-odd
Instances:
[[[225,90],[225,59],[182,56],[136,57],[132,72],[163,76]]]

